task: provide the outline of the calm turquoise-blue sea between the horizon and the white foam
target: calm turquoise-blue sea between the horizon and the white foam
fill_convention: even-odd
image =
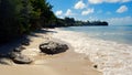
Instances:
[[[86,33],[90,38],[114,41],[132,45],[132,25],[109,25],[109,26],[69,26],[62,28],[66,31]]]

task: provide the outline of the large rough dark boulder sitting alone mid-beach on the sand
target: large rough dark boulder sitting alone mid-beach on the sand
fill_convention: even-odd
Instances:
[[[68,46],[58,42],[47,41],[43,44],[40,44],[40,50],[46,54],[57,54],[66,52],[66,50],[68,50]]]

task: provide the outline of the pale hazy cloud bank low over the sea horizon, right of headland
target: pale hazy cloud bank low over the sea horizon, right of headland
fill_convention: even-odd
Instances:
[[[132,24],[132,17],[111,18],[111,19],[108,19],[108,22],[112,25]]]

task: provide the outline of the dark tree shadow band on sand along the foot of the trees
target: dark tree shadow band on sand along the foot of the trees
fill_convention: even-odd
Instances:
[[[46,34],[46,33],[57,33],[57,32],[42,29],[42,30],[31,32],[29,35],[23,35],[23,36],[21,36],[19,39],[15,39],[15,40],[12,40],[10,42],[0,44],[0,55],[1,54],[8,54],[8,53],[12,52],[15,47],[21,46],[23,42],[31,43],[32,41],[30,40],[29,36],[38,38],[40,35],[37,35],[36,33]]]

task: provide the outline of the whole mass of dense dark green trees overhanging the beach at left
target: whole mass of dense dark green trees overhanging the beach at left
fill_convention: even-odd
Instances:
[[[0,42],[48,26],[56,19],[52,8],[46,0],[0,0]]]

